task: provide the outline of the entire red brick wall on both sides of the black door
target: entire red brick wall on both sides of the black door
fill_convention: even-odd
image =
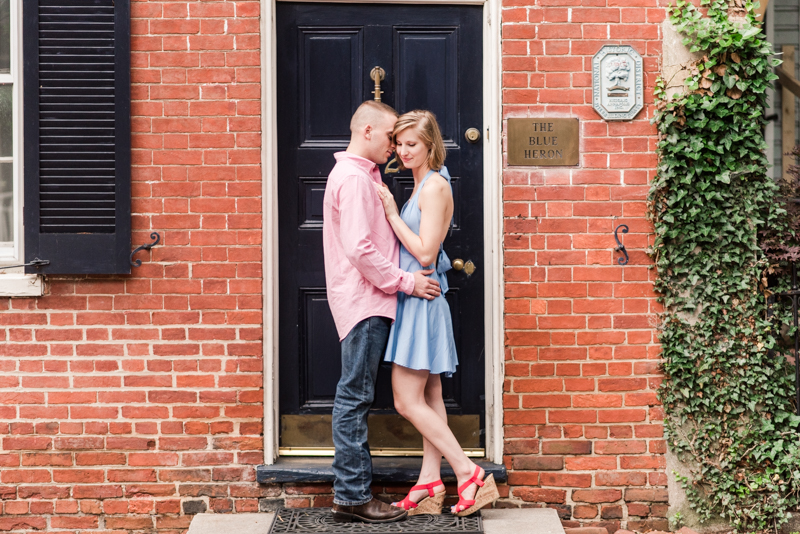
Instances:
[[[664,528],[652,271],[651,98],[660,0],[505,0],[504,115],[578,117],[578,169],[506,168],[500,506]],[[0,531],[179,531],[191,513],[327,506],[259,487],[259,2],[133,1],[130,277],[48,279],[0,300]],[[644,56],[647,108],[591,109],[591,56]],[[618,266],[612,231],[631,263]],[[376,488],[397,494],[403,488]]]

